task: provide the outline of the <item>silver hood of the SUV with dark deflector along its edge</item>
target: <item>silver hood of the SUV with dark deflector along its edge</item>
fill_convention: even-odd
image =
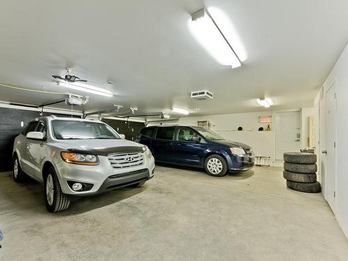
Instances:
[[[60,140],[59,145],[70,152],[101,156],[120,152],[143,152],[143,145],[125,139]]]

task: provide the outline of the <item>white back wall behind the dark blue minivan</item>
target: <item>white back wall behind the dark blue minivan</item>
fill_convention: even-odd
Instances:
[[[273,120],[275,119],[276,111],[260,111],[253,113],[230,113],[230,114],[220,114],[220,115],[211,115],[211,116],[193,116],[193,117],[183,117],[178,120],[163,120],[150,122],[150,125],[170,125],[170,124],[179,124],[179,125],[193,125],[197,126],[199,120],[208,120],[211,122],[211,127],[214,132],[217,132],[225,139],[230,141],[239,141],[251,145],[255,154],[258,156],[269,156],[272,161],[274,161],[276,155],[275,148],[275,132],[273,127],[274,123],[271,123],[271,132],[259,132],[259,127],[267,128],[267,123],[260,123],[260,116],[272,116]],[[314,108],[306,108],[304,110],[303,117],[314,116]],[[306,122],[306,119],[302,119],[303,122]],[[237,131],[237,128],[243,127],[243,131]],[[307,130],[308,132],[308,130]]]

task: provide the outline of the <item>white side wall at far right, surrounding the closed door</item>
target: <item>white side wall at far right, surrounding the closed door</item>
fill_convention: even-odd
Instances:
[[[347,149],[348,149],[348,45],[342,52],[335,67],[329,74],[329,77],[324,82],[324,90],[321,90],[316,98],[317,104],[325,104],[326,91],[335,81],[336,94],[337,94],[337,140],[336,140],[336,155],[337,155],[337,167],[336,167],[336,219],[345,235],[348,237],[348,168],[347,168]],[[323,109],[322,107],[320,108]],[[322,118],[321,120],[325,120]],[[320,123],[322,128],[320,129],[320,150],[324,149],[324,125]],[[322,164],[319,159],[319,164]],[[324,180],[322,181],[324,182]],[[325,184],[324,184],[325,185]]]

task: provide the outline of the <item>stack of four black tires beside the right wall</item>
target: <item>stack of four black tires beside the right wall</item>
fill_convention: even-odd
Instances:
[[[283,176],[289,189],[318,193],[321,191],[317,182],[317,155],[313,153],[284,153]]]

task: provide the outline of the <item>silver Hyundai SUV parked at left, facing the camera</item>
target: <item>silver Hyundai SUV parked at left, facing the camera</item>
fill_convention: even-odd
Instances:
[[[27,174],[43,183],[49,212],[68,208],[72,196],[139,187],[154,171],[148,147],[125,140],[99,120],[36,118],[13,146],[14,180]]]

